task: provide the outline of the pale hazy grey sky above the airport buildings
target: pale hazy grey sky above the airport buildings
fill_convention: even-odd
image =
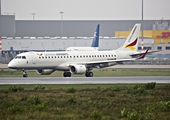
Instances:
[[[142,0],[1,0],[16,20],[141,20]],[[170,0],[143,0],[144,20],[170,19]]]

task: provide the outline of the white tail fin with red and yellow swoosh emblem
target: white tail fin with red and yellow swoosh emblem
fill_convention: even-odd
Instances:
[[[137,51],[141,24],[135,24],[124,45],[118,50]]]

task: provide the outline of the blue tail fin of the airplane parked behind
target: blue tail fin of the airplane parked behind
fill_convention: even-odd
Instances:
[[[100,24],[98,24],[96,27],[96,31],[94,33],[94,38],[91,47],[99,47],[99,29],[100,29]]]

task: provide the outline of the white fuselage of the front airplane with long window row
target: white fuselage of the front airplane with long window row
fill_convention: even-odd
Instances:
[[[64,51],[25,52],[17,55],[8,67],[13,69],[69,70],[70,64],[86,64],[93,61],[129,59],[132,51]]]

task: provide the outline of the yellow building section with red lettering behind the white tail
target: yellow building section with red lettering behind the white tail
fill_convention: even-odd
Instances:
[[[116,31],[115,37],[127,37],[130,34],[129,31]],[[142,36],[142,31],[140,32]],[[144,30],[143,36],[145,38],[152,38],[154,44],[170,44],[170,30]]]

